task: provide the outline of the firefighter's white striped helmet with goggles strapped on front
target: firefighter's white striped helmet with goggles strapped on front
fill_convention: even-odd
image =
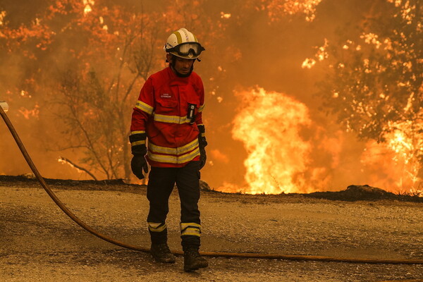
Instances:
[[[184,59],[197,59],[204,50],[197,37],[186,28],[180,28],[169,35],[164,46],[164,51]]]

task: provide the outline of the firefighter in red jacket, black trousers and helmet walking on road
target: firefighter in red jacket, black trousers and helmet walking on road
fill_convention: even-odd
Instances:
[[[131,168],[142,179],[148,173],[147,163],[151,166],[147,223],[150,252],[157,262],[175,262],[167,245],[166,215],[173,186],[178,187],[184,270],[194,271],[208,266],[199,253],[198,209],[200,169],[207,158],[202,123],[204,87],[200,76],[193,72],[204,48],[195,35],[181,28],[168,37],[164,50],[168,67],[146,80],[133,110]]]

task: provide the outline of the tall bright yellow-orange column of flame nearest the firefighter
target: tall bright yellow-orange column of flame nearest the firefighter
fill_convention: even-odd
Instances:
[[[250,194],[280,194],[304,190],[300,177],[307,168],[311,145],[300,130],[311,120],[305,104],[278,92],[259,88],[236,94],[240,113],[233,121],[232,135],[244,143],[247,187],[225,183],[218,190]]]

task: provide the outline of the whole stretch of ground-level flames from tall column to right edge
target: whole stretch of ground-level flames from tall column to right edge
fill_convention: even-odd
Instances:
[[[350,171],[351,180],[369,184],[392,192],[410,192],[421,195],[418,173],[423,138],[416,136],[413,126],[421,123],[392,124],[386,142],[367,142],[357,164],[348,166],[342,158],[348,139],[332,136],[325,128],[313,123],[305,104],[278,92],[262,88],[236,93],[240,98],[240,111],[233,121],[232,136],[243,142],[247,151],[245,185],[223,183],[223,192],[248,194],[280,194],[282,192],[313,192],[327,190],[333,185],[336,171]],[[302,133],[309,132],[307,140]],[[318,152],[331,156],[321,163]],[[224,156],[212,152],[214,159]],[[317,159],[314,159],[317,158]],[[228,159],[225,159],[228,162]],[[342,166],[340,168],[340,166]],[[348,178],[348,176],[341,176]],[[346,183],[350,185],[352,183]],[[420,182],[421,185],[421,182]]]

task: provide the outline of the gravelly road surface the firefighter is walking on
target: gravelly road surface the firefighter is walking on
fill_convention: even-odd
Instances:
[[[51,185],[98,231],[149,246],[147,200],[140,185]],[[173,193],[169,245],[180,250]],[[202,191],[202,251],[270,252],[373,259],[423,259],[423,204],[317,200],[302,195],[226,195]],[[82,230],[36,182],[0,179],[0,281],[416,281],[422,264],[360,264],[208,258],[183,272]]]

